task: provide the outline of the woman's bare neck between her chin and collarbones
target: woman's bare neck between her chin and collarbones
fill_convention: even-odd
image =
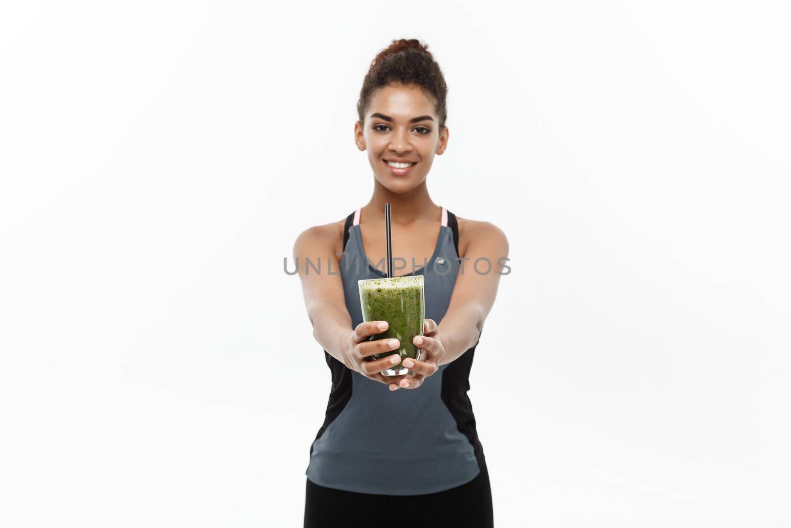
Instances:
[[[410,224],[415,220],[433,222],[439,218],[440,207],[433,203],[426,188],[426,180],[408,192],[392,192],[374,180],[373,196],[361,214],[366,222],[384,222],[384,204],[390,203],[390,219],[393,223]]]

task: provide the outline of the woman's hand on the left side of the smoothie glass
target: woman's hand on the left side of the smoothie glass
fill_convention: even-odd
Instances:
[[[409,374],[399,376],[383,376],[380,371],[397,365],[401,361],[399,354],[391,354],[381,359],[373,358],[374,354],[384,354],[389,351],[398,350],[401,343],[397,339],[380,339],[369,341],[369,337],[379,334],[388,329],[387,321],[362,322],[357,328],[350,331],[344,341],[343,357],[346,367],[359,372],[365,378],[373,379],[375,382],[389,385],[399,383]],[[391,344],[392,343],[392,344]],[[393,361],[395,359],[395,362]]]

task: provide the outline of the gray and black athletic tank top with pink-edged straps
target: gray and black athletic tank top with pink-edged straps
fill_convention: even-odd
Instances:
[[[365,256],[359,222],[359,209],[346,218],[340,270],[352,329],[362,322],[357,281],[387,276]],[[456,216],[443,207],[433,255],[408,274],[423,275],[426,318],[437,323],[456,284],[458,240]],[[327,488],[393,496],[441,492],[471,481],[485,464],[467,397],[474,354],[475,346],[417,389],[391,391],[324,351],[332,388],[305,475]],[[393,477],[393,469],[401,468],[409,469],[409,478]]]

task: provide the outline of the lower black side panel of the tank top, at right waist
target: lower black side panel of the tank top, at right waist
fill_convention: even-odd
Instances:
[[[480,335],[478,340],[480,342]],[[475,346],[468,348],[464,354],[448,363],[448,367],[445,367],[442,372],[440,394],[445,407],[448,408],[453,419],[456,420],[456,427],[472,444],[478,467],[483,469],[486,459],[483,456],[483,446],[481,446],[478,439],[478,430],[475,428],[475,415],[472,413],[472,403],[470,398],[467,397],[467,391],[470,389],[472,358],[475,355],[475,347],[477,346],[478,343],[475,343]]]

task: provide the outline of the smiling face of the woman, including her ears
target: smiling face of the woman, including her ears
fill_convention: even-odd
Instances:
[[[368,150],[368,161],[380,184],[393,192],[407,192],[426,180],[434,154],[448,144],[448,127],[439,130],[437,108],[422,89],[388,85],[377,89],[365,113],[365,127],[354,125],[354,141]],[[406,169],[388,161],[412,163]]]

